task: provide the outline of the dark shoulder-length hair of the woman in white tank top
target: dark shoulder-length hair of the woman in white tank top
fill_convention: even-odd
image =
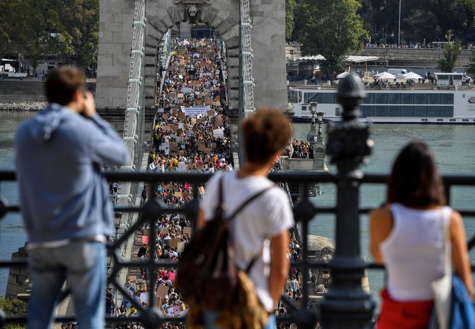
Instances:
[[[446,204],[442,178],[424,142],[411,141],[400,151],[389,176],[387,201],[414,208]]]

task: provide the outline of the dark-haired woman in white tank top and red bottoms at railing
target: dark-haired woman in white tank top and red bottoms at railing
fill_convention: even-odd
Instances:
[[[394,162],[386,205],[369,218],[370,251],[387,273],[378,329],[427,327],[431,282],[444,271],[442,220],[448,221],[454,270],[473,299],[462,217],[445,204],[431,150],[420,141],[409,143]]]

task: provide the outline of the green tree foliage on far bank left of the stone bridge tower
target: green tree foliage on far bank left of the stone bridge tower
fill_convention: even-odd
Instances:
[[[43,55],[97,62],[99,0],[1,0],[0,55],[15,48],[36,71]]]

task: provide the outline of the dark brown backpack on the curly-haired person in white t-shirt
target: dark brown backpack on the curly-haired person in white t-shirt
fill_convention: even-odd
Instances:
[[[215,218],[206,222],[183,251],[178,266],[178,286],[185,302],[206,310],[224,310],[236,300],[238,267],[229,232],[230,221],[255,198],[271,187],[249,197],[227,218],[223,218],[223,179],[219,185],[218,206]],[[249,273],[254,258],[245,272]]]

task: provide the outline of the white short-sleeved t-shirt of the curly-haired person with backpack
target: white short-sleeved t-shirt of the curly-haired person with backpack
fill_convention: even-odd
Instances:
[[[215,215],[218,203],[219,184],[223,181],[224,216],[238,209],[249,197],[273,186],[248,204],[231,225],[231,234],[236,249],[236,265],[245,270],[258,256],[249,273],[257,296],[269,311],[274,310],[274,301],[269,293],[270,237],[289,230],[294,218],[289,196],[272,181],[263,176],[237,177],[238,171],[217,173],[208,182],[207,191],[201,201],[205,220]]]

